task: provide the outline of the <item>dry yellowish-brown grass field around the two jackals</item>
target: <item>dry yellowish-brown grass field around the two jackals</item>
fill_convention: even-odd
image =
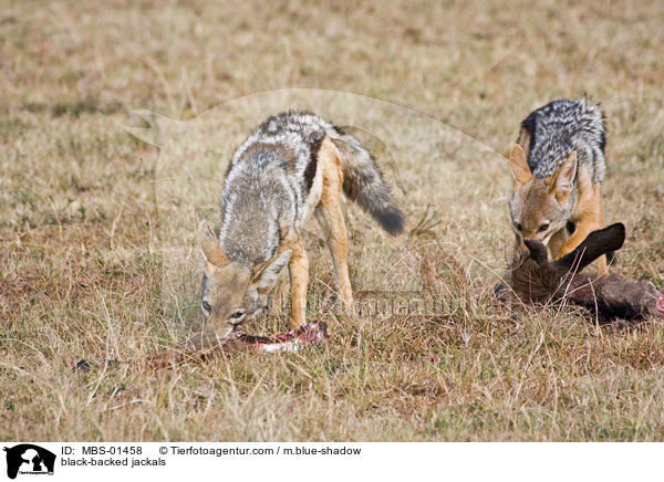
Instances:
[[[608,220],[629,228],[618,269],[664,286],[664,8],[445,3],[4,3],[0,439],[662,440],[661,324],[512,315],[490,293],[511,237],[497,153],[532,108],[585,93],[610,128]],[[217,201],[232,147],[286,101],[199,115],[283,87],[354,92],[437,119],[318,91],[287,98],[364,130],[394,160],[408,228],[434,206],[439,223],[397,241],[347,210],[355,290],[395,282],[427,310],[377,303],[340,319],[312,228],[309,316],[329,324],[326,346],[71,376],[79,358],[151,354],[199,321],[195,218]],[[205,122],[162,135],[159,153],[118,127],[145,127],[136,108]],[[190,169],[173,192],[155,185],[169,161]]]

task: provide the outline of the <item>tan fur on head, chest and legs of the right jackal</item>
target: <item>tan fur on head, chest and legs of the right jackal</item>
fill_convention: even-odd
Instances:
[[[523,133],[521,133],[523,134]],[[528,142],[520,135],[519,140]],[[512,205],[520,212],[515,219],[515,255],[523,252],[523,239],[542,241],[549,255],[557,260],[573,251],[585,237],[604,227],[601,186],[593,184],[591,172],[577,163],[577,153],[572,153],[556,174],[546,179],[536,179],[527,163],[526,150],[515,145],[510,154],[509,167],[512,176]],[[569,216],[562,207],[568,206],[573,184],[577,198],[571,199]],[[574,224],[574,231],[567,231],[568,222]],[[549,229],[543,229],[547,224]],[[606,256],[601,256],[598,270],[606,270]]]

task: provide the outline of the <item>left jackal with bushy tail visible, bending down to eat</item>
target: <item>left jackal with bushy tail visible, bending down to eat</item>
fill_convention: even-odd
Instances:
[[[372,155],[321,117],[282,113],[245,140],[226,174],[219,235],[207,221],[198,228],[206,259],[201,310],[209,329],[225,336],[257,317],[287,265],[291,327],[304,323],[309,259],[300,228],[312,213],[328,238],[344,308],[352,308],[342,192],[390,234],[403,231],[404,217]]]

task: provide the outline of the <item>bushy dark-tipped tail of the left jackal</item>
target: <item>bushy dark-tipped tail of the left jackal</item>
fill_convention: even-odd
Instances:
[[[392,235],[404,231],[404,214],[394,205],[374,157],[360,140],[339,128],[328,133],[343,169],[343,191]]]

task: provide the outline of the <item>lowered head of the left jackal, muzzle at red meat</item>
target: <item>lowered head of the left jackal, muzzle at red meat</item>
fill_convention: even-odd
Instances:
[[[198,226],[198,242],[205,256],[200,294],[205,324],[218,336],[228,337],[240,324],[263,312],[291,251],[256,266],[230,261],[207,221]]]

